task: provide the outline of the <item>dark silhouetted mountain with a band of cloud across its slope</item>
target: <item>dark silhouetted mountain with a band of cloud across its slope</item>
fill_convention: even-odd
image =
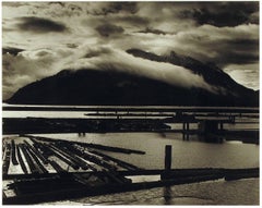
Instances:
[[[203,88],[178,87],[164,81],[114,70],[63,70],[19,89],[9,103],[45,105],[179,105],[179,106],[258,106],[258,93],[248,89],[214,65],[192,58],[160,57],[138,49],[127,51],[134,57],[169,62],[201,75],[221,93]],[[139,60],[138,60],[139,61]]]

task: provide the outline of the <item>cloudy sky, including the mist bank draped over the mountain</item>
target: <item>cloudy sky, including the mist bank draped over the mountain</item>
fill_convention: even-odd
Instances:
[[[2,97],[64,69],[128,70],[214,90],[187,69],[128,54],[131,48],[215,63],[257,90],[259,2],[3,2]]]

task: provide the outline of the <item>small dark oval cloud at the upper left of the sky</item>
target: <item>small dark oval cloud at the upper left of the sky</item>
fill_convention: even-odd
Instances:
[[[22,30],[29,30],[34,33],[49,33],[49,32],[66,32],[67,27],[62,23],[57,23],[48,19],[40,17],[21,17],[21,23],[17,24]]]

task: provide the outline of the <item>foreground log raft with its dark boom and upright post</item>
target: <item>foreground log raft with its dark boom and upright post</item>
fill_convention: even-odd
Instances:
[[[28,143],[28,139],[32,143]],[[12,146],[15,147],[15,143],[11,144],[10,142],[4,145],[3,180],[13,180],[9,188],[14,189],[15,196],[3,193],[4,205],[72,199],[218,179],[231,181],[259,178],[259,168],[171,169],[170,146],[166,148],[165,169],[143,170],[79,143],[37,137],[29,137],[22,143],[16,143],[17,159],[24,174],[8,174],[7,167],[12,166],[10,162]],[[23,168],[23,159],[27,162],[29,171],[25,166]],[[58,162],[59,160],[60,162]],[[48,162],[56,173],[47,171],[44,162]],[[61,163],[75,170],[66,170]],[[80,171],[80,169],[82,170]],[[159,180],[152,182],[132,182],[130,180],[132,179],[130,176],[138,175],[158,175]]]

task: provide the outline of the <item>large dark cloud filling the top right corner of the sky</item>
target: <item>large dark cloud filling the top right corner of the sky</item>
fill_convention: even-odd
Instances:
[[[259,22],[254,15],[259,11],[259,2],[202,2],[199,8],[184,10],[182,17],[193,19],[198,24],[210,24],[217,27],[237,26]]]

